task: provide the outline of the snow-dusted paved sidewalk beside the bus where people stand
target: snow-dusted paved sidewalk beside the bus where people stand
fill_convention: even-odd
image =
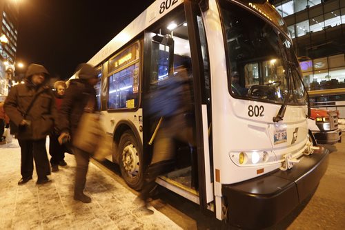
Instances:
[[[151,216],[135,212],[135,194],[92,163],[86,181],[92,202],[73,200],[75,159],[66,154],[65,160],[52,183],[36,185],[34,171],[33,180],[19,186],[18,142],[0,145],[0,229],[181,229],[153,207]]]

